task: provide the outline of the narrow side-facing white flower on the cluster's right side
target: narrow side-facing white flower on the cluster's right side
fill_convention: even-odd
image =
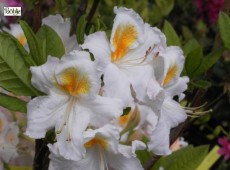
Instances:
[[[173,97],[177,95],[180,100],[183,96],[182,93],[187,89],[189,79],[186,76],[180,77],[184,66],[184,56],[178,47],[167,47],[164,51],[161,51],[153,66],[156,79],[164,89],[166,97],[161,106],[159,123],[151,135],[148,146],[154,153],[165,155],[171,153],[169,148],[170,129],[178,126],[187,118],[185,110],[178,102],[173,100]],[[155,140],[157,138],[164,138],[164,140],[157,142]]]

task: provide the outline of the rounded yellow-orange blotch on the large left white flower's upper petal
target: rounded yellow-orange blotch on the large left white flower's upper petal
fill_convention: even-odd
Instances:
[[[87,94],[90,91],[91,83],[87,75],[81,75],[76,68],[68,68],[60,75],[61,84],[58,86],[65,92],[76,96]]]

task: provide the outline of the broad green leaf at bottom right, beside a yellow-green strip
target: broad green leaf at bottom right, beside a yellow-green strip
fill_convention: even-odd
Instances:
[[[167,157],[160,158],[152,170],[163,167],[167,170],[194,170],[203,161],[208,153],[208,146],[188,146],[180,149]]]

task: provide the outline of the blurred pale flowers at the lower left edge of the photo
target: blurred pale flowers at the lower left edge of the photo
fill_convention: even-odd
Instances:
[[[0,169],[3,169],[3,162],[9,163],[18,155],[18,133],[19,128],[15,122],[9,122],[0,111]]]

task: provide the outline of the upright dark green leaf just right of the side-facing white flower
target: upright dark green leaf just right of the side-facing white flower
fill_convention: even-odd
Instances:
[[[190,78],[194,77],[194,72],[200,67],[202,57],[203,51],[201,47],[196,48],[186,57],[185,70]]]

